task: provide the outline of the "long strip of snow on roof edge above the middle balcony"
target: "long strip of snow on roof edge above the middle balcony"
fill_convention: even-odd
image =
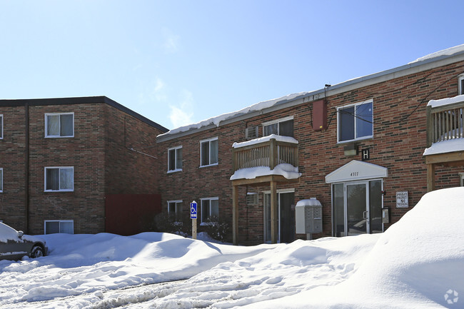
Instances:
[[[246,108],[242,108],[239,111],[233,111],[231,113],[224,113],[224,114],[222,114],[220,116],[211,117],[211,118],[208,118],[206,120],[200,121],[198,123],[193,123],[193,124],[190,124],[188,126],[181,126],[179,128],[174,128],[174,129],[172,129],[170,131],[167,131],[166,133],[158,135],[158,137],[166,136],[166,135],[170,135],[170,134],[181,133],[181,132],[189,131],[189,130],[192,130],[192,129],[198,129],[198,128],[202,128],[203,126],[209,126],[211,124],[213,124],[215,126],[219,126],[221,121],[225,121],[225,120],[227,120],[229,118],[235,118],[237,116],[249,113],[251,111],[262,111],[263,109],[270,108],[270,107],[275,106],[276,104],[281,103],[283,101],[291,101],[294,98],[297,98],[298,96],[304,96],[304,95],[306,95],[308,93],[309,92],[292,93],[292,94],[288,94],[286,96],[282,96],[280,98],[274,98],[272,100],[262,101],[262,102],[253,104],[251,106],[248,106]]]

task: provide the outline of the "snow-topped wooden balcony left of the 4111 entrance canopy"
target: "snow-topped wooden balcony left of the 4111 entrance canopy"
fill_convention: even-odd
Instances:
[[[264,176],[282,176],[288,181],[298,173],[298,141],[288,136],[266,136],[233,144],[231,181],[262,182]],[[268,178],[266,178],[268,179]],[[266,179],[264,181],[266,181]]]

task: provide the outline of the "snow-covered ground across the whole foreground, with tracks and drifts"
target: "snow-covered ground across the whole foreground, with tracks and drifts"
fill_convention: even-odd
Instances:
[[[46,235],[0,262],[1,308],[464,308],[464,188],[383,234],[251,247],[166,233]]]

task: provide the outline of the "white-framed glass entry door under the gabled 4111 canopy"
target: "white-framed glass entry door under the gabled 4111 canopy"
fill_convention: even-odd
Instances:
[[[336,183],[332,188],[334,235],[383,231],[381,180]]]

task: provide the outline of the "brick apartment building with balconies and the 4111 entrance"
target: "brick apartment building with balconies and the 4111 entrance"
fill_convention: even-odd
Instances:
[[[161,134],[163,208],[180,218],[196,201],[200,228],[218,216],[233,226],[229,240],[243,245],[305,238],[296,234],[294,206],[308,198],[322,204],[323,231],[315,238],[385,231],[428,190],[463,181],[464,148],[452,164],[449,155],[423,156],[451,127],[463,138],[464,97],[433,113],[438,125],[427,107],[462,94],[463,74],[460,46]],[[450,115],[455,124],[448,128]],[[438,133],[428,140],[432,131]],[[271,133],[276,141],[253,141]],[[301,175],[277,171],[279,163]],[[239,175],[257,166],[267,172]]]

